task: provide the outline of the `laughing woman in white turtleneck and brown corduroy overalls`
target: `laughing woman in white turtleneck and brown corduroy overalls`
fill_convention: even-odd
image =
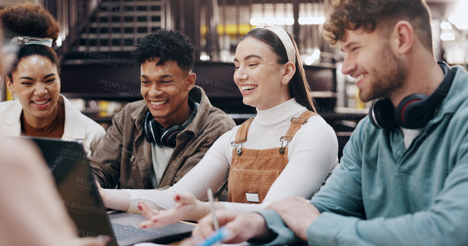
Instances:
[[[142,213],[150,220],[141,226],[151,227],[202,218],[210,211],[202,202],[206,190],[219,190],[227,180],[228,202],[216,208],[256,211],[286,197],[311,198],[320,189],[338,163],[338,143],[315,111],[291,35],[258,26],[241,38],[234,64],[234,81],[256,117],[223,134],[171,188],[106,190],[106,206]]]

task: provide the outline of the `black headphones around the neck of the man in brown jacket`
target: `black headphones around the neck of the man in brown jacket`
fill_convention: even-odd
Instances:
[[[195,103],[191,98],[189,98],[189,105],[192,109],[192,114],[195,114],[197,108]],[[191,117],[191,115],[190,115]],[[150,111],[146,113],[145,117],[145,126],[143,131],[145,132],[146,141],[154,144],[159,144],[161,146],[166,146],[170,148],[176,148],[176,137],[177,134],[182,132],[183,127],[179,124],[170,125],[168,128],[164,129],[162,133],[159,132],[158,126],[155,126],[154,117]]]

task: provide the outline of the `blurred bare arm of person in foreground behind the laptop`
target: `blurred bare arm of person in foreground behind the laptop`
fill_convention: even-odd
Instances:
[[[104,246],[102,238],[78,238],[77,228],[47,172],[41,151],[21,138],[0,139],[0,245]],[[56,207],[55,207],[56,206]],[[76,230],[78,232],[78,230]]]

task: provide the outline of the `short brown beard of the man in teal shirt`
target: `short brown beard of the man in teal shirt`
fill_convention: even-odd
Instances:
[[[382,59],[375,63],[380,64],[379,70],[375,67],[369,70],[368,91],[359,91],[359,99],[365,103],[377,98],[389,98],[393,91],[403,86],[407,76],[406,65],[395,54],[388,51],[381,51],[381,54]]]

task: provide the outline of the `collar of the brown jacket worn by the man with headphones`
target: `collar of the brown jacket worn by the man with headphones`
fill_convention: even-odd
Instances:
[[[194,102],[199,103],[200,107],[198,108],[197,114],[195,115],[195,118],[193,118],[192,123],[190,123],[187,128],[183,129],[181,133],[190,131],[194,134],[194,137],[197,137],[200,129],[205,125],[206,118],[208,118],[208,114],[211,110],[211,103],[206,96],[205,91],[197,85],[194,85],[190,90],[189,97],[192,98]],[[143,127],[143,121],[145,120],[146,113],[149,111],[148,106],[144,101],[143,104],[144,106],[142,106],[141,109],[131,113],[132,119],[135,120],[135,126],[140,132]]]

